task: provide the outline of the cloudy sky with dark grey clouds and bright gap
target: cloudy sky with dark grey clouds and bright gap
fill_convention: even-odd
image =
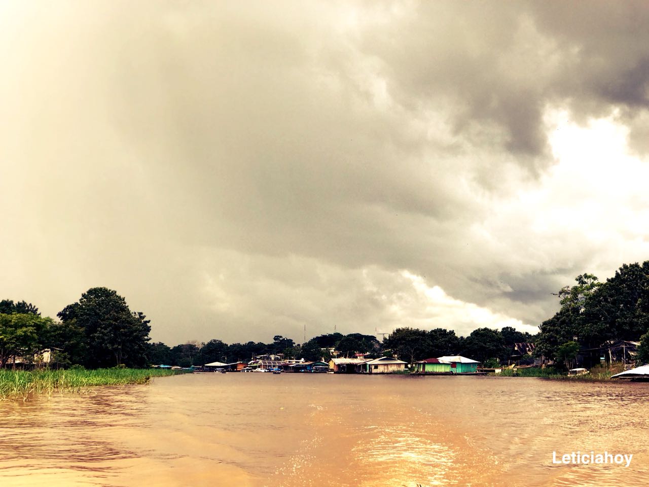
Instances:
[[[644,1],[3,0],[0,60],[0,298],[43,315],[535,332],[649,258]]]

